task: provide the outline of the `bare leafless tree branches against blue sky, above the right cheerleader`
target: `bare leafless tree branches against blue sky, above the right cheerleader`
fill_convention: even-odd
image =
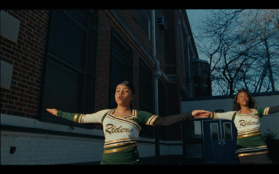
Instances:
[[[218,95],[239,88],[276,90],[278,19],[278,10],[214,10],[204,18],[196,38],[197,49],[209,58],[208,90],[211,84]]]

